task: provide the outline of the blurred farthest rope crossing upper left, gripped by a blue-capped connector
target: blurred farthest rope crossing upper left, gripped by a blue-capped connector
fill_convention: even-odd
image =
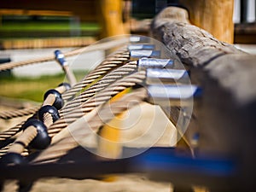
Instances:
[[[64,56],[69,57],[69,56],[79,55],[84,52],[90,52],[90,51],[99,50],[99,49],[110,49],[117,45],[119,46],[124,45],[125,43],[128,43],[127,39],[119,39],[119,40],[102,43],[102,44],[92,44],[89,47],[68,51],[67,53],[64,53]],[[34,63],[46,62],[46,61],[55,61],[55,55],[44,56],[41,58],[31,59],[27,61],[16,61],[16,62],[4,63],[0,66],[0,71],[12,69],[15,67],[26,66]]]

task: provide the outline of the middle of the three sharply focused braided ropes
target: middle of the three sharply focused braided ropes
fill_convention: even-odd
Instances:
[[[114,81],[118,79],[122,79],[130,73],[134,73],[136,70],[137,61],[131,61],[126,63],[124,66],[118,67],[111,73],[105,75],[96,84],[90,86],[89,89],[84,90],[84,92],[77,96],[75,99],[73,99],[70,102],[67,102],[67,105],[61,109],[60,113],[66,113],[69,112],[70,109],[79,107],[79,105],[81,105],[82,102],[86,102],[91,96],[94,96],[100,90],[103,90],[106,87],[108,87],[109,84],[112,84]]]

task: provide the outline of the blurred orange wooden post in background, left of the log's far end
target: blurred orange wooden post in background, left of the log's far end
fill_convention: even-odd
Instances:
[[[125,34],[122,7],[122,0],[98,0],[98,19],[102,26],[101,38]]]

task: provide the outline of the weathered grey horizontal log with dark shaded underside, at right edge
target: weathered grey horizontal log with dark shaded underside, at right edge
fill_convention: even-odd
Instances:
[[[164,9],[155,17],[152,32],[189,67],[191,82],[203,89],[193,111],[200,129],[198,155],[239,161],[236,191],[241,186],[252,189],[256,173],[256,56],[218,41],[190,25],[184,15],[184,9]]]

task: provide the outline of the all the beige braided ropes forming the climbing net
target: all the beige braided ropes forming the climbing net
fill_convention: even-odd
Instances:
[[[84,48],[77,49],[65,55],[76,55],[84,50]],[[49,56],[37,60],[11,62],[2,65],[0,71],[33,64],[35,62],[52,61],[54,59],[54,57]],[[146,97],[146,90],[141,88],[126,94],[116,102],[109,102],[119,92],[131,88],[136,84],[143,84],[145,72],[137,72],[137,61],[129,60],[129,51],[127,49],[119,49],[112,55],[108,55],[104,61],[88,73],[79,83],[74,84],[73,87],[62,93],[61,96],[65,101],[65,105],[59,110],[60,119],[54,122],[49,113],[45,113],[43,119],[44,124],[47,125],[49,137],[52,138],[52,143],[49,148],[43,150],[31,163],[54,162],[60,159],[62,155],[67,154],[70,149],[77,147],[79,145],[78,142],[73,139],[73,136],[67,134],[67,130],[72,128],[73,134],[79,136],[79,139],[86,137],[88,132],[81,133],[79,129],[79,127],[84,126],[83,124],[78,124],[81,119],[86,119],[85,126],[98,131],[102,125],[113,119],[113,115],[117,115],[124,112],[127,108],[131,108],[132,105],[128,105],[129,102],[132,100],[137,100],[137,102],[143,101]],[[38,118],[39,108],[37,106],[0,113],[0,118],[12,119],[31,114],[33,114],[32,117],[28,119]],[[109,110],[112,113],[108,113]],[[101,117],[99,114],[101,114]],[[5,143],[10,138],[15,138],[25,123],[26,121],[23,121],[9,128],[9,130],[0,133],[0,142]],[[10,148],[14,148],[13,142],[3,144],[0,149],[0,156],[8,154],[9,150],[11,150]],[[22,151],[22,155],[29,155],[29,151],[26,148],[19,150]]]

